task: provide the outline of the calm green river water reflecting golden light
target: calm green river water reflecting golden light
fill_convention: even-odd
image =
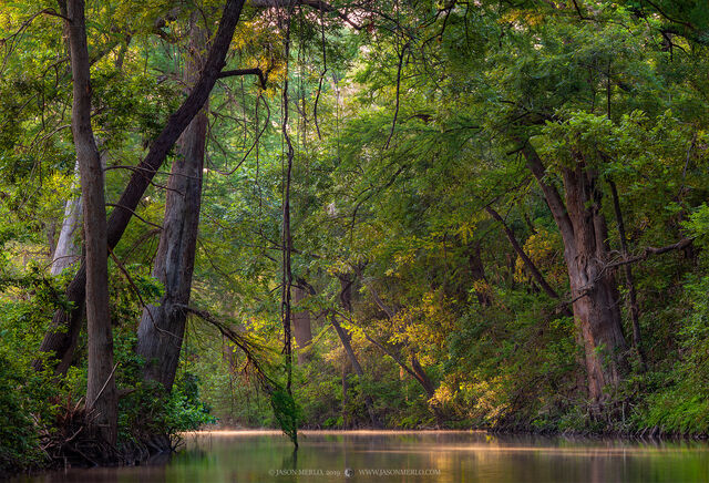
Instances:
[[[189,434],[169,461],[69,470],[22,482],[708,482],[709,445],[472,431],[302,431]]]

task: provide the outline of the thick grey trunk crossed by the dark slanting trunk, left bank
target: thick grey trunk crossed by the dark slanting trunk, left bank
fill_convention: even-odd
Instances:
[[[193,16],[185,83],[193,84],[202,69],[199,52],[206,34]],[[206,106],[187,126],[178,141],[178,153],[167,183],[165,218],[155,256],[153,276],[165,292],[158,306],[147,306],[137,329],[137,353],[145,360],[144,377],[172,389],[185,333],[192,274],[199,227],[202,169],[207,134]]]

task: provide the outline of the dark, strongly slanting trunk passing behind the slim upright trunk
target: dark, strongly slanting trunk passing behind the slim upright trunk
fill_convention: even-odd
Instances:
[[[219,21],[219,28],[212,42],[209,55],[199,80],[179,109],[169,116],[167,124],[151,145],[147,155],[136,166],[119,199],[117,207],[111,213],[107,222],[109,248],[113,249],[117,245],[133,216],[133,212],[167,153],[207,101],[225,65],[226,54],[229,50],[236,24],[242,16],[243,7],[244,0],[227,0]],[[85,279],[86,267],[82,264],[79,273],[66,287],[66,299],[73,302],[73,307],[69,311],[58,309],[54,312],[50,329],[40,346],[40,352],[53,353],[58,359],[56,372],[64,372],[69,368],[76,347],[76,339],[81,328],[81,309],[86,296]],[[41,359],[33,362],[35,369],[40,369],[42,366]]]

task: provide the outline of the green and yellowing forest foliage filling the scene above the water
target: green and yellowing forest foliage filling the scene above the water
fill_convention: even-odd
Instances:
[[[71,75],[61,19],[40,16],[25,24],[35,6],[6,3],[0,466],[9,467],[39,461],[38,438],[52,431],[58,401],[80,400],[86,336],[80,333],[73,364],[56,384],[30,371],[52,312],[66,308],[63,287],[72,276],[47,275],[64,201],[76,195]],[[116,199],[133,173],[125,167],[145,154],[184,99],[178,79],[194,6],[89,3],[92,122],[107,153],[106,198]],[[152,277],[160,237],[153,228],[169,184],[161,168],[136,209],[141,219],[114,250],[121,266],[110,264],[116,381],[125,394],[122,441],[217,420],[280,427],[295,439],[300,425],[367,427],[372,417],[405,429],[709,431],[706,6],[371,6],[397,18],[353,13],[362,22],[354,30],[335,12],[315,17],[298,6],[291,59],[281,27],[259,16],[240,22],[229,69],[259,66],[268,82],[264,89],[250,76],[224,78],[210,93],[191,304],[228,315],[225,327],[258,357],[191,320],[173,391],[143,381],[137,321],[143,306],[164,295]],[[217,7],[209,0],[197,16],[209,31]],[[162,19],[169,20],[157,37]],[[294,367],[294,397],[284,389],[280,357],[286,75],[286,131],[295,148],[292,275],[307,292],[295,310],[310,315],[315,336],[297,348],[307,357]],[[521,152],[527,141],[544,165],[541,179]],[[593,178],[593,208],[604,219],[603,239],[595,240],[608,247],[603,263],[633,258],[639,309],[640,346],[629,350],[629,371],[607,388],[602,408],[585,392],[578,327],[566,312],[569,260],[541,184],[565,201],[566,177],[577,167]],[[540,287],[510,236],[554,294]],[[645,249],[685,237],[692,244],[682,250]],[[630,286],[621,267],[606,275],[615,277],[629,341]],[[414,361],[423,374],[412,376]]]

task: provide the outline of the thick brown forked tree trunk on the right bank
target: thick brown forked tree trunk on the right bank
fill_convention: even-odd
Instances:
[[[625,370],[625,339],[615,280],[606,273],[607,227],[600,212],[596,175],[578,156],[563,168],[566,203],[545,181],[542,160],[528,141],[522,153],[536,177],[564,242],[564,259],[572,289],[574,319],[584,347],[588,394],[602,402],[603,388],[616,387]]]

